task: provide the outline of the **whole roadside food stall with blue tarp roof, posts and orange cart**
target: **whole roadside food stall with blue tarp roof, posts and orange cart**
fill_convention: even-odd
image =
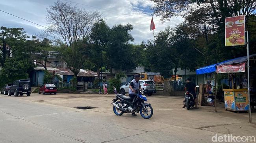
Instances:
[[[256,57],[256,54],[253,54],[253,55],[249,56],[250,60],[252,60],[253,63],[256,64],[256,62],[254,62],[254,57]],[[197,72],[197,75],[198,74],[211,75],[210,79],[212,81],[214,81],[213,82],[214,83],[213,88],[215,88],[215,87],[217,87],[216,86],[217,85],[216,76],[217,76],[217,73],[221,73],[221,71],[219,71],[221,66],[236,64],[236,67],[238,67],[237,72],[239,71],[239,73],[242,73],[242,72],[245,73],[244,70],[245,70],[245,62],[246,61],[247,61],[247,56],[239,57],[239,58],[234,58],[234,59],[227,60],[227,61],[224,61],[224,62],[215,63],[213,65],[208,65],[206,67],[202,67],[200,69],[197,69],[196,72]],[[241,66],[239,66],[238,64],[240,64]],[[253,66],[253,64],[251,64],[251,65]],[[217,67],[219,67],[219,68],[217,69]],[[224,69],[225,68],[227,68],[227,67],[224,67]],[[234,68],[234,66],[230,67],[230,69],[232,69],[232,68]],[[254,70],[255,72],[251,71],[251,70]],[[256,77],[256,67],[255,68],[251,67],[250,71],[251,71],[250,72],[250,76]],[[228,73],[228,72],[226,72],[226,73]],[[232,79],[233,79],[233,76],[235,75],[235,73],[236,72],[232,73],[232,76],[231,76]],[[250,85],[256,87],[256,79],[255,80],[253,80],[253,79],[255,79],[255,78],[252,78],[252,79],[250,78],[250,81],[252,82]],[[209,79],[206,78],[206,76],[204,76],[204,83],[201,84],[203,87],[205,86],[207,80],[209,80]],[[236,81],[239,82],[239,80],[236,80]],[[246,80],[244,82],[246,83]],[[231,81],[231,83],[234,83],[234,81]],[[237,85],[239,85],[239,84],[237,83]],[[204,93],[204,89],[203,89],[202,86],[200,87],[200,92],[201,93],[199,93],[199,95],[198,95],[198,100],[201,100],[201,105],[202,105],[202,102],[204,102],[206,104],[206,99],[208,97],[208,94]],[[246,88],[246,86],[245,87],[241,87],[241,88],[239,86],[239,89],[238,89],[234,84],[232,84],[232,86],[230,86],[230,87],[231,87],[231,89],[223,89],[223,91],[225,92],[224,94],[226,94],[226,99],[224,99],[225,100],[225,109],[226,109],[226,106],[229,106],[230,108],[228,108],[228,110],[234,109],[234,111],[238,111],[238,110],[241,111],[243,109],[243,110],[247,111],[248,110],[248,106],[247,105],[249,103],[249,100],[248,100],[248,89],[243,89],[243,88]],[[254,90],[255,90],[255,92],[254,92],[255,96],[252,95],[252,98],[250,99],[250,101],[251,102],[255,102],[255,105],[256,105],[256,101],[255,101],[255,99],[256,99],[256,88]],[[233,94],[234,94],[234,96],[233,96]],[[215,98],[215,111],[217,111],[217,107],[216,107],[217,92],[213,92],[213,96],[215,96],[214,97]],[[255,97],[255,99],[254,99],[254,97]],[[246,102],[244,102],[244,100],[246,100]],[[232,108],[232,102],[233,102],[233,108]],[[235,109],[236,103],[237,103],[237,109]]]

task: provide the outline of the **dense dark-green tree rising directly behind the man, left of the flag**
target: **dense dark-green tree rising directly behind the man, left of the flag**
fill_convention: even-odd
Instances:
[[[133,27],[131,24],[114,25],[109,31],[109,42],[106,49],[106,65],[113,76],[113,68],[122,70],[133,70],[137,67],[135,63],[132,45],[134,40],[130,31]]]

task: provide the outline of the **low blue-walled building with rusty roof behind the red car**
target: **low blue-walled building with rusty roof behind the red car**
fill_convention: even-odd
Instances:
[[[47,70],[49,72],[55,72],[58,74],[63,82],[69,83],[72,77],[74,76],[74,73],[70,69],[66,68],[54,68],[54,67],[47,67]],[[30,75],[30,81],[32,82],[33,86],[41,86],[43,85],[43,78],[45,76],[45,68],[44,67],[35,67],[34,72]],[[83,70],[80,69],[80,72],[77,75],[77,81],[81,82],[90,82],[94,81],[97,77],[97,73],[90,70]],[[56,80],[55,82],[59,82]]]

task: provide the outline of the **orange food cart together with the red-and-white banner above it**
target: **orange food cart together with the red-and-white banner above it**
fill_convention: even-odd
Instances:
[[[248,79],[246,79],[247,76],[243,77],[243,80],[240,79],[234,81],[234,77],[240,76],[241,73],[245,75],[245,67],[247,62],[247,56],[236,58],[233,60],[230,60],[228,62],[220,63],[217,66],[217,73],[228,73],[231,77],[231,83],[232,88],[230,89],[223,89],[224,92],[224,103],[225,103],[225,109],[226,110],[232,110],[232,111],[249,111],[249,106],[255,105],[255,60],[254,57],[256,57],[256,54],[250,55],[250,88],[248,88]],[[238,83],[237,83],[238,82]],[[236,86],[237,85],[237,86]],[[250,99],[248,96],[248,89],[250,89]]]

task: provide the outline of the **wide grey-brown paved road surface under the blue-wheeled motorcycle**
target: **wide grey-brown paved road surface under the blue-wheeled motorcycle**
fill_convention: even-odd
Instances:
[[[148,97],[154,108],[151,119],[130,114],[115,116],[113,95],[32,94],[0,95],[0,143],[208,143],[212,136],[255,136],[247,113],[219,107],[186,110],[181,97]],[[44,101],[39,101],[44,100]],[[81,110],[74,107],[93,106]],[[256,121],[255,113],[253,119]]]

